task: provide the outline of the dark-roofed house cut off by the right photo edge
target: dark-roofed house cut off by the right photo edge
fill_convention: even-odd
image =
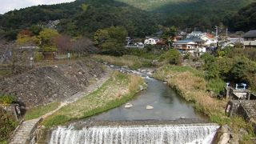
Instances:
[[[256,30],[250,30],[246,34],[243,35],[244,48],[256,48]]]

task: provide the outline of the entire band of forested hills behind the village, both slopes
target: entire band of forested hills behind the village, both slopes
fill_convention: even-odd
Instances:
[[[98,29],[123,26],[132,37],[143,38],[159,26],[206,31],[224,23],[230,30],[255,27],[252,0],[227,1],[130,1],[77,0],[50,6],[32,6],[0,15],[0,35],[14,40],[20,30],[46,26],[59,20],[57,30],[72,37],[92,36]],[[250,26],[251,28],[248,28]]]

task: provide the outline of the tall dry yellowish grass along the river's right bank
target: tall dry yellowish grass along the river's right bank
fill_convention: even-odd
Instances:
[[[224,112],[226,100],[210,97],[210,94],[206,92],[209,83],[206,82],[201,71],[188,66],[166,65],[159,68],[154,77],[168,82],[183,98],[194,102],[194,108],[208,115],[211,122],[216,122],[220,125],[227,124],[235,133],[238,133],[238,130],[243,128],[253,134],[252,127],[246,124],[242,118],[229,118],[226,116]]]

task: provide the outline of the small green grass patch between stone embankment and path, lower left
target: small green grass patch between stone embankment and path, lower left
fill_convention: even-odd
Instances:
[[[34,108],[26,111],[25,120],[40,118],[42,115],[47,114],[50,111],[57,109],[59,105],[60,105],[59,102],[52,102],[46,106],[34,107]]]

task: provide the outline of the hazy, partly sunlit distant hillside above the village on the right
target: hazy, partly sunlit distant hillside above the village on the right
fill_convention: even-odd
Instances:
[[[194,30],[211,29],[219,25],[230,14],[236,13],[242,7],[249,5],[254,0],[118,0],[158,14],[164,26],[178,26]],[[191,29],[192,28],[192,29]]]

